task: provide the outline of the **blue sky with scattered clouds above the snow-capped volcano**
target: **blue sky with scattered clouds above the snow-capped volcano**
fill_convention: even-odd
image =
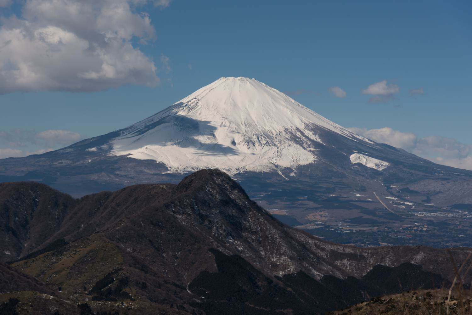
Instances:
[[[472,169],[470,1],[0,6],[0,157],[124,128],[243,76],[374,141]]]

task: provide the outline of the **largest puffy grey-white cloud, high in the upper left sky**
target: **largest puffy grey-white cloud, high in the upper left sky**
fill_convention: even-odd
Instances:
[[[26,0],[22,18],[0,27],[0,94],[159,85],[153,60],[131,41],[156,39],[148,15],[138,13],[148,2]],[[170,0],[153,2],[164,8]]]

